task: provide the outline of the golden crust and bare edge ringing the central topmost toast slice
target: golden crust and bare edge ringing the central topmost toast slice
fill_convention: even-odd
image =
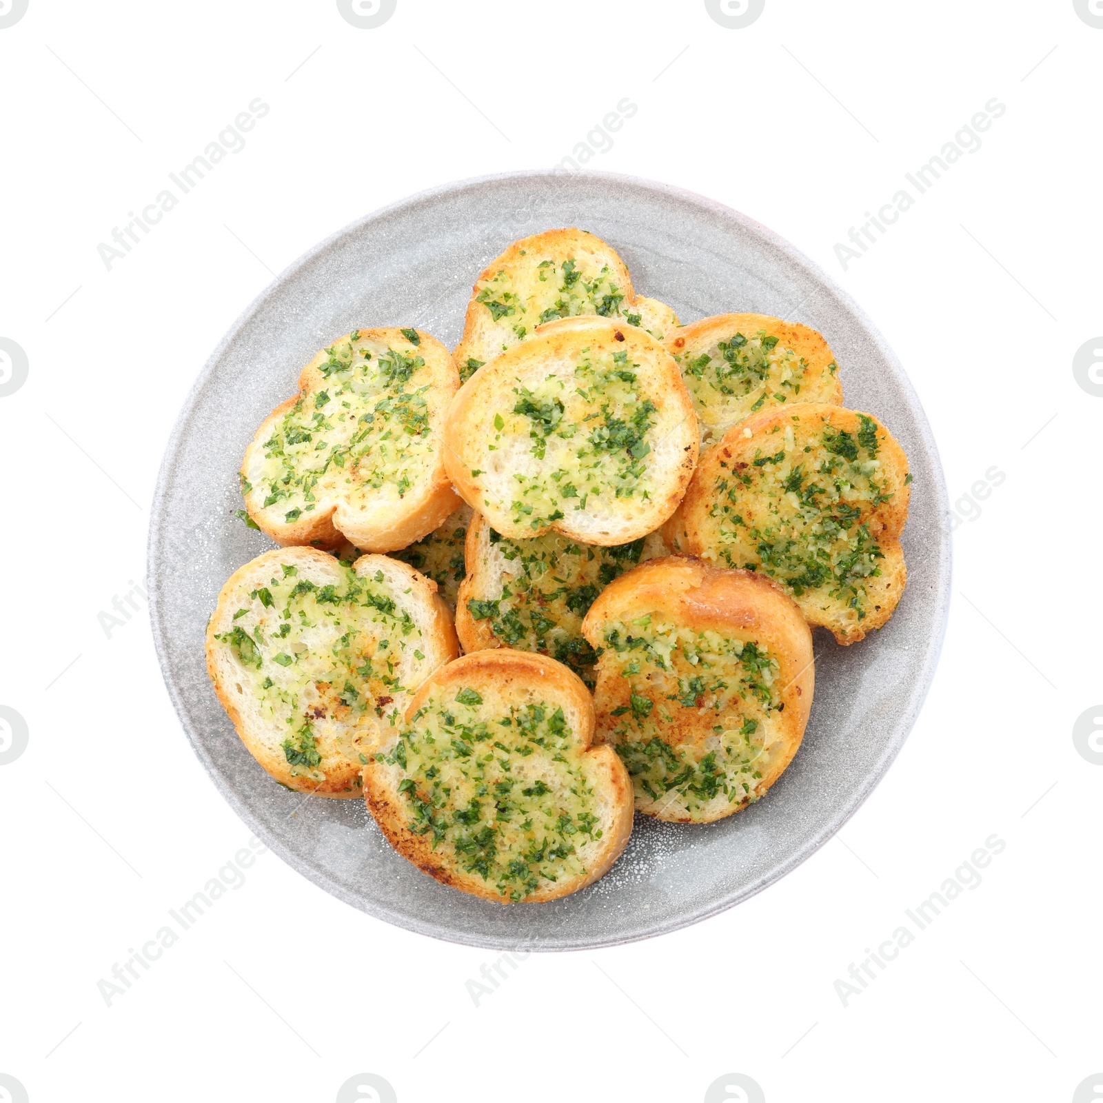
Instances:
[[[518,381],[520,385],[537,385],[554,367],[561,371],[583,352],[611,354],[621,350],[627,350],[632,361],[641,365],[638,373],[643,381],[641,394],[655,403],[660,418],[654,430],[654,449],[643,460],[653,473],[650,500],[643,502],[639,496],[621,500],[611,507],[615,512],[600,518],[592,508],[568,510],[566,516],[538,528],[515,523],[512,508],[502,504],[508,497],[501,488],[516,486],[508,480],[522,462],[537,474],[549,472],[554,463],[552,460],[536,463],[525,454],[508,471],[496,472],[495,457],[488,449],[497,431],[494,418],[503,410],[512,413]],[[610,546],[646,536],[674,512],[696,465],[699,436],[681,372],[662,344],[638,328],[579,317],[537,326],[528,341],[479,368],[452,399],[443,442],[445,464],[456,490],[503,535],[524,539],[555,528],[587,544]],[[528,451],[527,436],[524,451]],[[500,452],[499,465],[506,463],[505,456]]]

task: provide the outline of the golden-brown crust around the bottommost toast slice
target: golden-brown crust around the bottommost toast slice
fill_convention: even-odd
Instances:
[[[632,831],[632,786],[628,772],[610,748],[592,747],[593,702],[577,675],[560,663],[521,651],[479,651],[441,667],[414,695],[406,711],[411,724],[418,709],[431,694],[449,694],[451,689],[473,688],[490,699],[492,694],[513,704],[554,702],[563,708],[568,722],[585,749],[583,762],[592,771],[591,781],[600,791],[609,814],[603,820],[606,831],[599,852],[590,855],[583,875],[560,878],[525,898],[526,903],[540,903],[569,896],[591,885],[613,865],[628,844]],[[392,739],[389,742],[394,742]],[[381,748],[382,750],[382,748]],[[408,802],[398,793],[395,771],[378,756],[364,767],[364,796],[367,807],[387,842],[422,872],[462,892],[507,902],[485,880],[469,874],[448,855],[435,850],[426,835],[414,834],[406,826]]]

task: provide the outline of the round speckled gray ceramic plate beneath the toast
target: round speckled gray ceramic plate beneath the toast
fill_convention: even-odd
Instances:
[[[889,624],[852,647],[816,633],[816,695],[800,753],[761,803],[716,824],[636,817],[628,850],[565,900],[502,907],[431,880],[384,842],[360,801],[290,793],[249,757],[207,681],[219,588],[271,545],[234,516],[261,419],[314,352],[357,326],[416,325],[451,346],[476,275],[510,242],[581,226],[613,245],[636,290],[683,322],[756,311],[805,322],[834,350],[848,406],[881,418],[914,475],[909,581]],[[149,539],[153,633],[196,753],[238,815],[317,885],[437,938],[503,949],[602,946],[673,931],[746,900],[846,822],[900,750],[934,673],[950,592],[945,488],[927,419],[860,310],[792,246],[718,203],[650,181],[545,172],[426,192],[349,226],[240,317],[188,399],[161,467]]]

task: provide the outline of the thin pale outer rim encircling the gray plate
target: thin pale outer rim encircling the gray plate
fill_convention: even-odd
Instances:
[[[469,933],[465,931],[458,933],[452,928],[447,928],[441,923],[427,920],[420,915],[413,917],[407,912],[394,911],[385,903],[377,900],[367,900],[354,892],[347,891],[335,877],[315,866],[302,855],[295,854],[289,847],[285,846],[285,844],[275,834],[272,834],[267,824],[264,823],[253,812],[253,810],[244,803],[244,800],[237,793],[237,790],[233,785],[228,784],[223,778],[211,754],[200,740],[199,735],[192,729],[191,719],[188,714],[183,695],[175,685],[173,678],[170,676],[172,666],[169,657],[167,628],[161,611],[160,586],[162,578],[159,568],[163,537],[165,535],[165,502],[169,493],[169,485],[172,482],[172,475],[175,470],[173,460],[180,451],[184,432],[191,418],[194,416],[196,399],[210,382],[218,363],[225,355],[226,350],[229,349],[229,346],[239,338],[242,331],[261,309],[276,288],[308,267],[319,256],[342,238],[360,232],[371,223],[382,221],[396,212],[409,211],[419,205],[432,202],[443,195],[474,191],[481,186],[497,182],[516,180],[543,181],[548,179],[563,179],[564,176],[570,180],[589,180],[596,183],[621,183],[632,185],[635,189],[658,193],[664,197],[677,200],[683,203],[688,203],[693,206],[704,208],[710,214],[720,216],[727,221],[733,221],[740,224],[745,229],[750,231],[754,235],[758,235],[768,242],[774,249],[801,268],[811,281],[815,282],[820,287],[827,288],[836,297],[837,301],[852,313],[852,315],[869,334],[871,342],[889,365],[896,382],[901,387],[904,397],[909,401],[915,420],[917,433],[928,450],[928,454],[931,457],[932,465],[934,468],[935,479],[932,489],[938,505],[938,513],[939,516],[943,518],[943,523],[939,525],[939,570],[935,576],[935,592],[933,596],[935,602],[935,627],[934,632],[932,633],[932,639],[925,642],[925,654],[923,655],[919,676],[917,677],[912,689],[911,704],[900,715],[900,718],[895,724],[893,727],[896,729],[896,733],[892,740],[886,745],[875,767],[866,773],[861,785],[850,796],[847,804],[840,806],[840,808],[836,811],[836,814],[827,820],[824,825],[810,836],[792,855],[789,856],[785,861],[773,866],[769,874],[759,877],[752,884],[743,886],[735,892],[721,896],[716,900],[708,901],[690,912],[685,912],[677,917],[672,917],[671,919],[657,922],[644,931],[631,934],[606,935],[599,938],[567,939],[556,941],[555,943],[540,944],[542,940],[538,936],[503,938],[495,936],[493,934],[481,935],[480,933]],[[828,276],[817,264],[815,264],[815,261],[806,257],[799,248],[796,248],[796,246],[783,238],[777,232],[770,229],[769,226],[763,225],[757,219],[751,218],[749,215],[746,215],[725,203],[720,203],[717,200],[713,200],[688,189],[651,180],[645,176],[618,172],[599,172],[595,170],[583,170],[580,172],[567,172],[565,170],[563,173],[559,173],[549,169],[524,169],[510,172],[496,172],[485,175],[468,176],[461,180],[437,184],[432,188],[415,192],[400,200],[396,200],[395,202],[388,203],[382,207],[377,207],[368,214],[347,223],[292,260],[272,280],[270,280],[237,315],[233,324],[207,357],[194,383],[188,390],[180,411],[173,422],[172,431],[165,441],[164,452],[158,469],[157,484],[150,503],[150,524],[147,537],[146,567],[149,578],[148,590],[150,628],[153,636],[153,646],[157,652],[158,664],[161,670],[161,676],[164,681],[169,698],[175,709],[180,725],[188,737],[188,741],[192,746],[192,750],[203,763],[203,767],[210,779],[214,782],[215,788],[223,795],[238,817],[253,829],[257,838],[264,842],[270,850],[277,854],[296,872],[306,877],[319,888],[360,912],[364,912],[375,919],[379,919],[384,922],[401,928],[403,930],[428,935],[429,938],[435,938],[443,942],[490,950],[527,949],[539,952],[596,950],[607,946],[627,945],[632,942],[657,938],[662,934],[670,934],[674,931],[693,927],[706,919],[710,919],[714,915],[728,911],[737,904],[743,903],[751,897],[757,896],[763,889],[769,888],[771,885],[791,874],[797,866],[811,858],[827,842],[829,842],[833,836],[842,831],[849,820],[866,803],[869,795],[877,788],[877,785],[880,784],[885,774],[888,772],[893,761],[896,761],[897,756],[902,750],[903,745],[907,742],[908,737],[915,725],[915,720],[922,711],[938,670],[942,646],[945,641],[953,575],[953,540],[950,526],[945,523],[945,518],[949,517],[949,493],[946,491],[945,472],[942,467],[942,459],[939,452],[938,443],[931,430],[927,411],[924,410],[923,405],[919,399],[919,395],[904,371],[903,365],[900,363],[899,357],[886,341],[880,330],[872,323],[865,310],[863,310],[863,308],[850,297],[849,292],[836,283],[831,276]]]

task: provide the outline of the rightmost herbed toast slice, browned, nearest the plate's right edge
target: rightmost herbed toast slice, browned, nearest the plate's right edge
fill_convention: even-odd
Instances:
[[[667,545],[780,582],[838,643],[881,628],[903,593],[910,475],[871,415],[799,404],[754,414],[702,456]]]

